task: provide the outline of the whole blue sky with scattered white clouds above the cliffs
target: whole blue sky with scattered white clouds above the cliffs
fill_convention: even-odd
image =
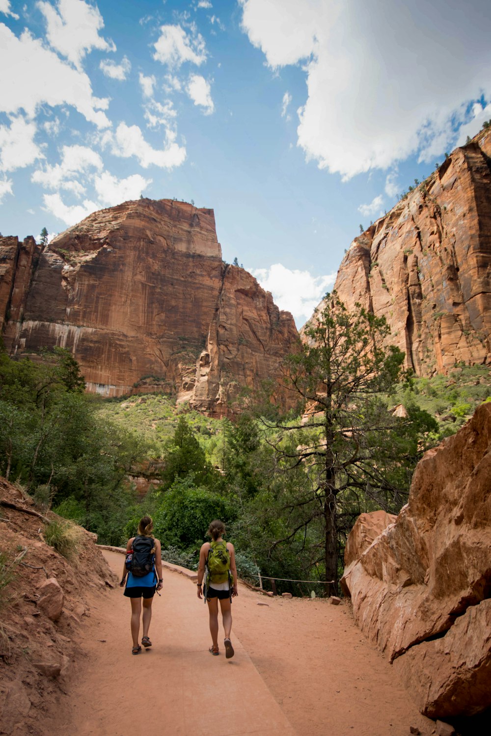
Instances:
[[[303,324],[359,224],[491,118],[489,0],[0,0],[0,231],[213,208]]]

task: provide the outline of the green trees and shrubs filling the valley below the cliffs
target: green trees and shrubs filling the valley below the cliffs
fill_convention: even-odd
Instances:
[[[0,351],[0,473],[21,482],[43,513],[67,520],[44,535],[68,558],[77,556],[71,522],[121,545],[148,513],[164,559],[196,567],[219,517],[243,578],[306,580],[276,585],[322,594],[322,581],[339,579],[358,514],[398,512],[425,449],[491,400],[489,367],[401,373],[401,353],[381,347],[384,320],[347,313],[334,294],[326,303],[311,345],[284,363],[297,401],[286,416],[270,399],[272,384],[261,397],[244,395],[248,409],[233,421],[216,420],[165,394],[86,395],[66,350],[42,361]],[[406,417],[392,414],[399,404]],[[135,476],[152,481],[143,498]],[[12,570],[2,557],[0,595]]]

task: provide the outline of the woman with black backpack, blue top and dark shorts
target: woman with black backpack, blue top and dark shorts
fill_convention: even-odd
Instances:
[[[152,601],[155,590],[163,587],[162,578],[162,555],[160,542],[152,535],[153,521],[149,516],[144,516],[138,524],[136,537],[128,539],[126,545],[126,557],[124,559],[123,577],[120,587],[126,588],[124,595],[131,601],[131,637],[133,639],[132,654],[141,652],[138,643],[140,634],[141,598],[144,599],[143,606],[143,637],[141,643],[144,647],[152,646],[149,640],[150,620],[152,620]]]

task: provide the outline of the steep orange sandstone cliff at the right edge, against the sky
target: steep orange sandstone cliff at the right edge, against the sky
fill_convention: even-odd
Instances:
[[[417,375],[491,361],[491,132],[355,238],[336,286],[385,316]]]

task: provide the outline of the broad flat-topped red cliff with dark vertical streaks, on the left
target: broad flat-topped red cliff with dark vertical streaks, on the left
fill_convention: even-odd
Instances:
[[[106,396],[163,390],[224,414],[297,340],[292,315],[223,263],[213,210],[186,202],[124,202],[43,249],[0,238],[0,276],[7,350],[67,347]]]

